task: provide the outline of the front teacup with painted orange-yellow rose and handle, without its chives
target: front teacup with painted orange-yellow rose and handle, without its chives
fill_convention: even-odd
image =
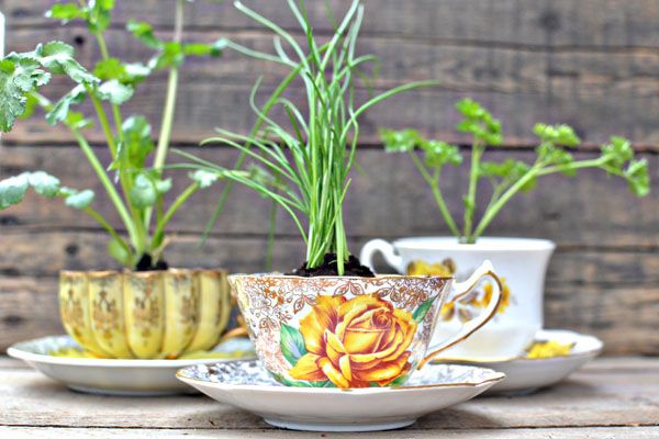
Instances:
[[[280,383],[355,389],[404,383],[439,352],[467,339],[496,313],[500,281],[485,261],[465,282],[468,294],[483,278],[494,288],[485,312],[459,334],[431,345],[453,277],[300,278],[232,274],[233,292],[256,352]]]

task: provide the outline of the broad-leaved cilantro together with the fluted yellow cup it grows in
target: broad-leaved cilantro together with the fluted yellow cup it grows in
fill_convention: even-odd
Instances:
[[[129,22],[126,30],[155,53],[146,64],[112,57],[104,34],[111,24],[114,1],[56,3],[46,16],[64,23],[83,22],[98,42],[100,60],[91,69],[75,58],[74,47],[53,41],[33,52],[12,53],[0,61],[0,128],[11,130],[19,117],[31,117],[35,108],[48,123],[66,126],[80,146],[109,202],[121,218],[111,224],[94,209],[91,190],[64,187],[43,171],[25,172],[0,182],[0,209],[20,202],[29,189],[59,198],[66,205],[90,215],[108,233],[109,254],[124,271],[63,272],[62,320],[71,337],[100,357],[176,358],[209,349],[220,339],[231,311],[223,270],[168,269],[163,254],[169,243],[166,227],[197,191],[217,175],[191,173],[190,184],[166,205],[171,179],[165,162],[171,138],[179,70],[189,57],[219,56],[223,41],[214,44],[183,42],[185,0],[176,0],[171,41],[160,40],[145,22]],[[125,116],[123,105],[152,72],[168,72],[167,91],[157,143],[143,115]],[[52,102],[41,90],[53,76],[66,76],[72,89]],[[90,116],[75,109],[92,104]],[[98,124],[112,161],[102,164],[87,140],[86,130]],[[121,233],[120,227],[126,232]]]

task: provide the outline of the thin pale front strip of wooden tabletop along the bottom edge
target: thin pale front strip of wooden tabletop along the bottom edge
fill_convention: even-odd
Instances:
[[[272,439],[284,438],[345,438],[349,435],[337,434],[312,434],[286,430],[199,430],[199,429],[144,429],[138,430],[127,428],[60,428],[60,427],[0,427],[0,435],[5,435],[12,439],[32,439],[38,435],[40,439],[59,439],[66,436],[70,439],[78,438],[121,438],[121,439],[142,439],[142,438],[236,438],[253,439],[267,435]],[[442,431],[442,437],[447,439],[546,439],[560,437],[565,439],[626,439],[629,437],[646,439],[656,438],[659,435],[659,427],[590,427],[590,428],[541,428],[541,429],[515,429],[515,430],[459,430]],[[418,430],[414,427],[405,430],[382,431],[361,434],[359,437],[372,439],[431,439],[437,438],[436,431]]]

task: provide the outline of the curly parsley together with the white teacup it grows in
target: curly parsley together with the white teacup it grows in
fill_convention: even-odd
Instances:
[[[461,228],[447,206],[440,181],[446,166],[462,165],[458,146],[425,139],[413,130],[382,130],[386,149],[407,154],[428,184],[453,237],[405,238],[393,245],[381,239],[372,240],[364,247],[361,260],[371,266],[373,254],[381,251],[388,263],[399,272],[455,273],[460,278],[482,259],[491,259],[505,279],[500,317],[477,337],[446,353],[456,357],[513,357],[521,353],[543,326],[545,273],[555,245],[541,239],[483,237],[487,228],[511,199],[532,191],[543,177],[549,175],[572,177],[579,170],[596,168],[626,180],[634,194],[645,196],[649,191],[647,164],[635,159],[632,144],[621,137],[611,137],[607,144],[602,145],[600,157],[577,160],[569,151],[581,143],[574,131],[567,125],[546,124],[534,127],[538,146],[533,162],[513,158],[501,162],[487,161],[487,149],[502,144],[501,123],[473,100],[461,100],[456,108],[462,115],[458,131],[473,138],[469,184],[462,198]],[[481,217],[477,218],[481,180],[488,180],[492,191],[490,199],[482,204]],[[483,301],[487,303],[490,291],[491,284],[484,284],[472,295],[449,304],[444,309],[444,318],[456,325],[461,319],[471,318],[482,308]],[[443,328],[449,330],[450,325]]]

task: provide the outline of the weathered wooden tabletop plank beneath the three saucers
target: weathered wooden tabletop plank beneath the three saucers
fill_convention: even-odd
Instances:
[[[202,396],[110,398],[68,392],[34,371],[1,370],[0,373],[0,425],[5,427],[247,430],[268,436],[276,431],[254,415]],[[396,431],[392,437],[433,430],[436,437],[437,430],[442,430],[442,435],[471,429],[491,430],[482,434],[510,434],[510,429],[552,427],[562,427],[558,435],[562,437],[563,431],[571,431],[569,427],[654,427],[658,425],[657,419],[659,373],[656,368],[630,367],[626,373],[591,373],[587,367],[552,389],[515,398],[477,398],[425,416],[411,430]],[[636,431],[625,432],[637,437]],[[599,434],[605,432],[610,430],[591,430],[592,437],[602,437]]]

